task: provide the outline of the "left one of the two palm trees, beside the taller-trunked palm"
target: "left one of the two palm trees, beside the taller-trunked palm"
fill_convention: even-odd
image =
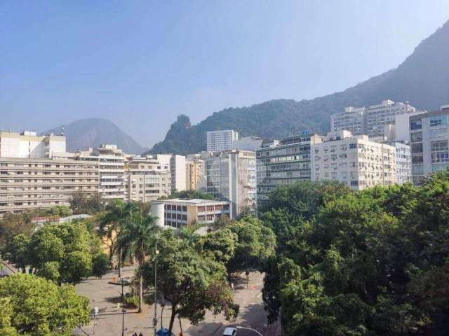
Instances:
[[[122,264],[122,247],[119,242],[119,235],[122,223],[126,222],[134,211],[137,211],[136,204],[125,203],[123,200],[115,200],[112,203],[107,204],[106,213],[101,218],[98,232],[101,237],[105,238],[103,241],[109,246],[109,260],[117,252],[119,248],[119,277],[121,277],[121,264]]]

